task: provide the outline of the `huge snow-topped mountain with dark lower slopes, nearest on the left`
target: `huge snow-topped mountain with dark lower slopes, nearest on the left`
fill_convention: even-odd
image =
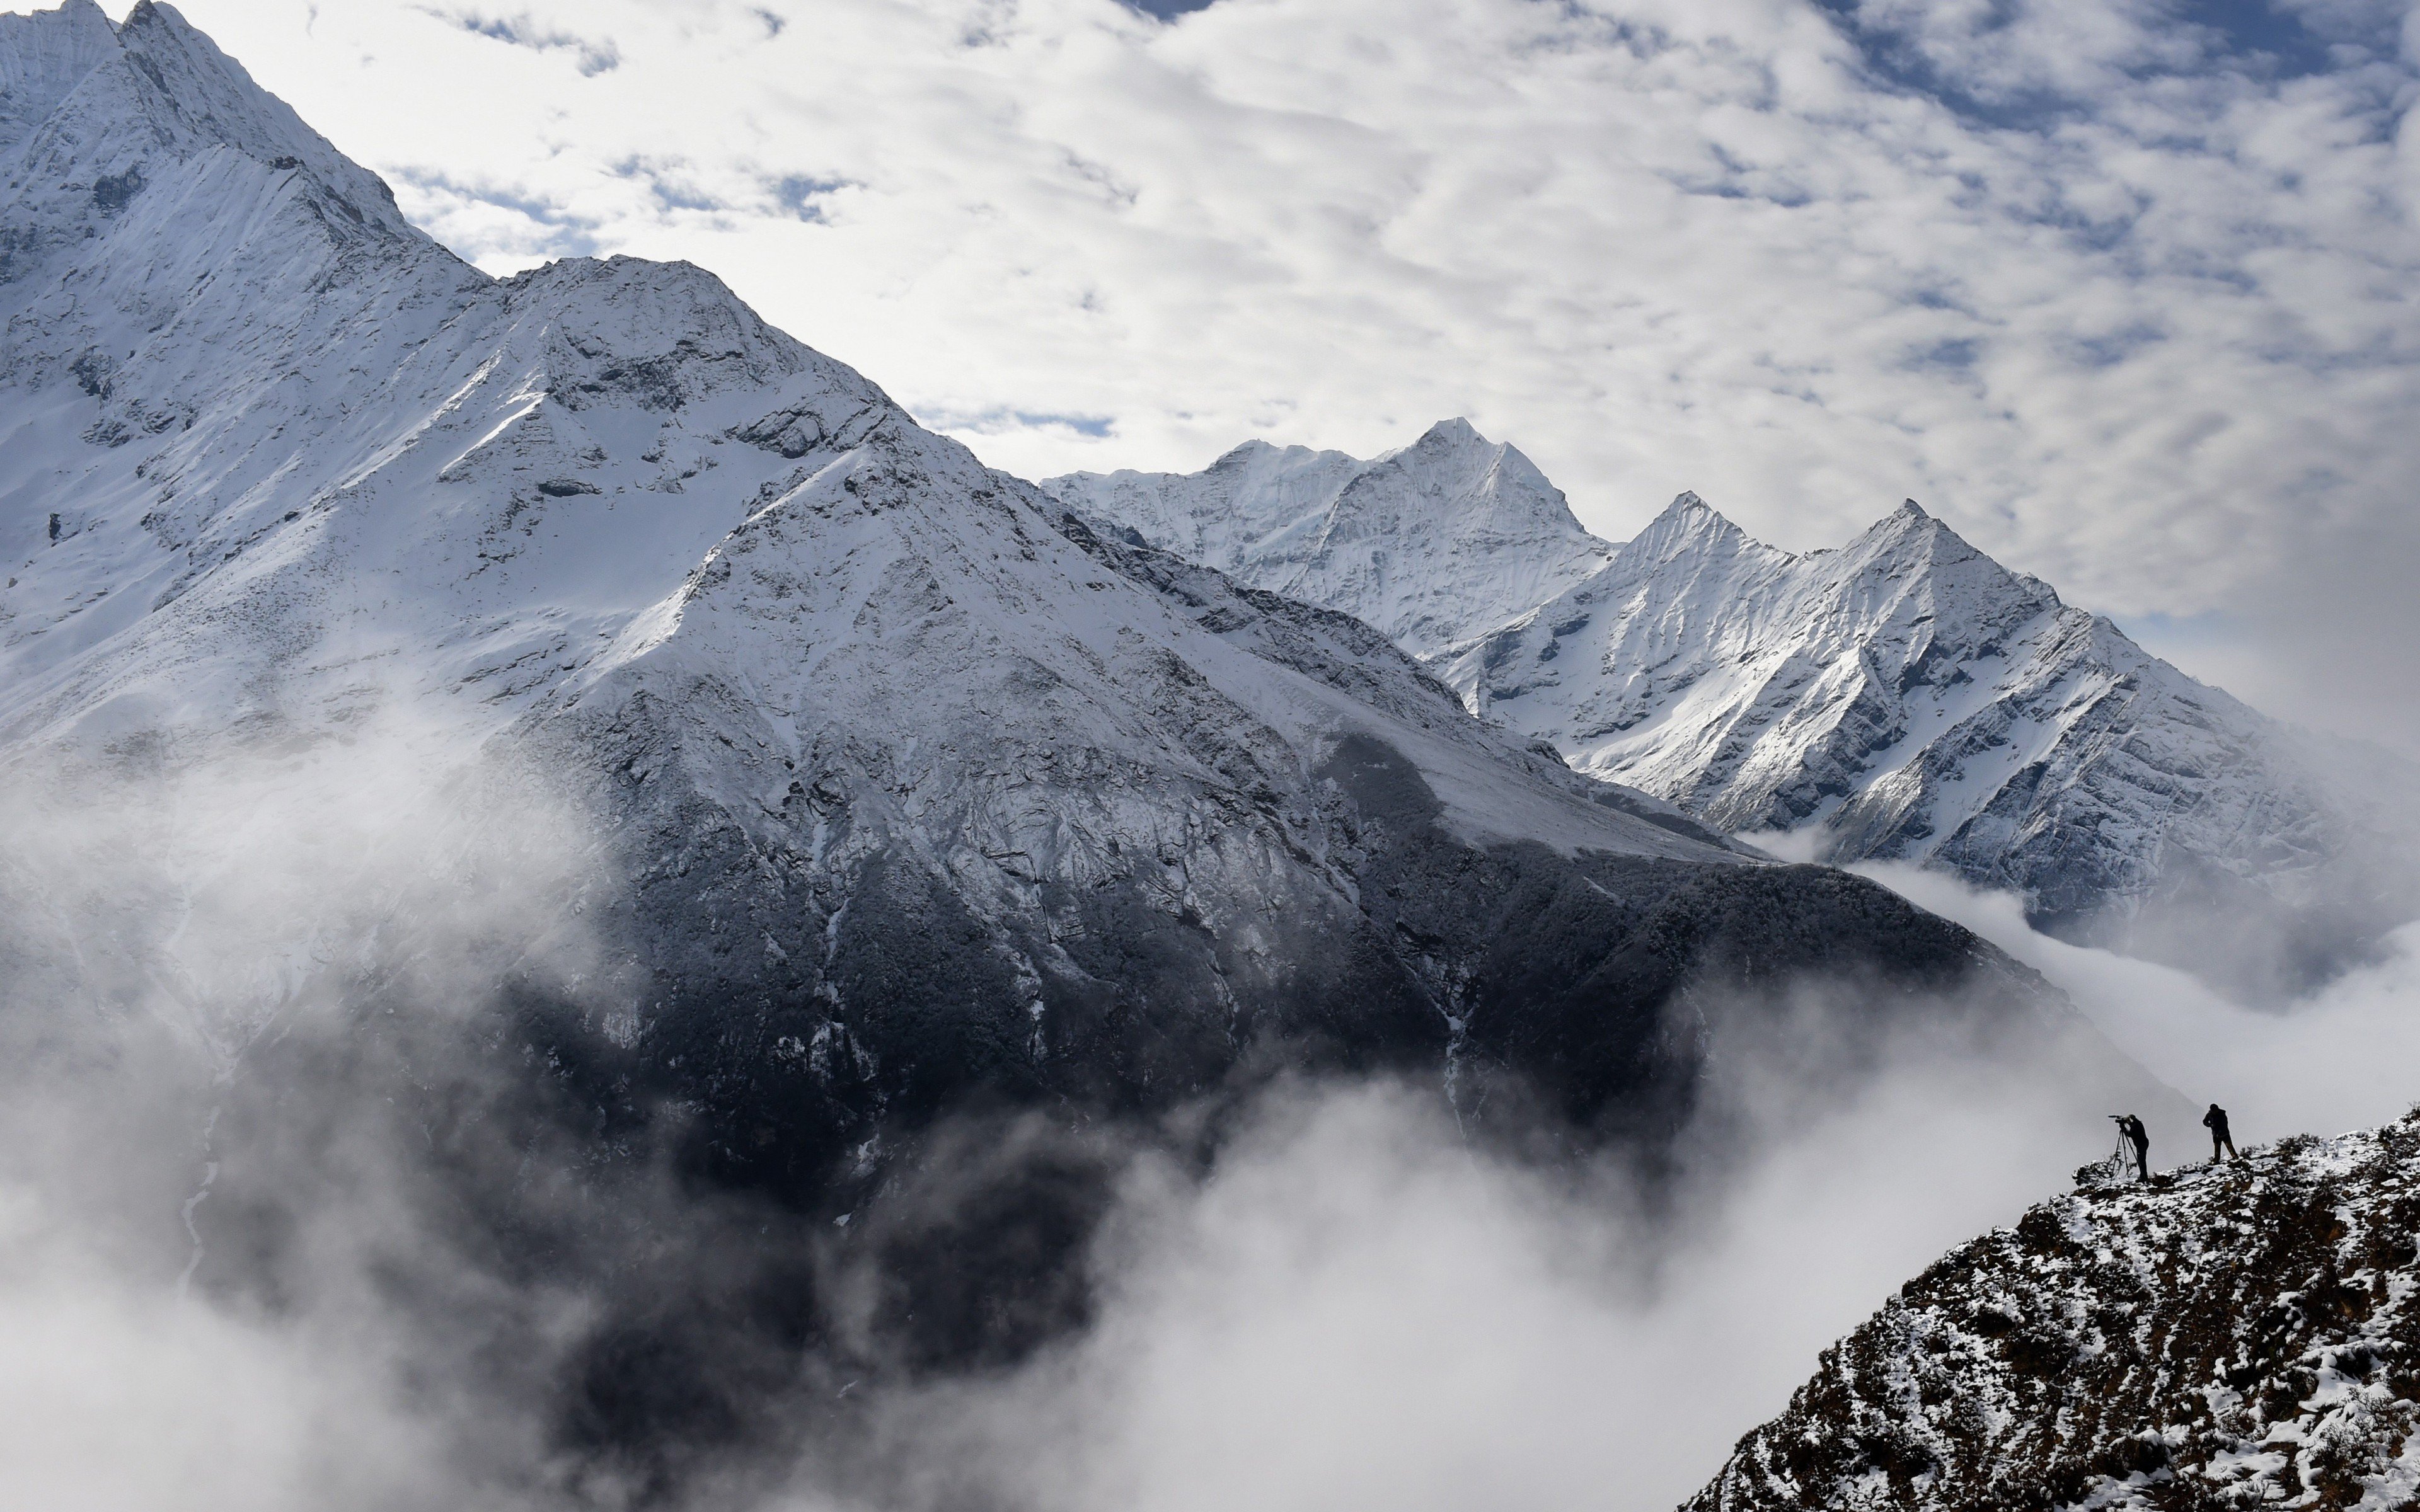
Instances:
[[[0,762],[407,716],[544,772],[603,878],[561,900],[612,953],[578,1006],[750,1130],[726,1149],[811,1188],[975,1091],[1154,1108],[1270,1062],[1474,1106],[1512,1072],[1667,1130],[1692,994],[1878,946],[2064,1023],[1965,931],[1469,719],[1362,622],[1089,530],[699,269],[465,266],[165,5],[0,48]],[[1457,498],[1568,525],[1433,443],[1392,467],[1450,452]]]

